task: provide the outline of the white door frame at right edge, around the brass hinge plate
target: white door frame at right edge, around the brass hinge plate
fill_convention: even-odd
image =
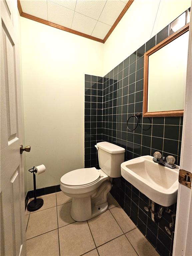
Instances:
[[[192,173],[192,16],[180,169]],[[192,188],[179,184],[173,256],[192,256]]]

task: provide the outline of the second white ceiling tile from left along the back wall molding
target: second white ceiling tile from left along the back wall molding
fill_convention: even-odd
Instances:
[[[48,21],[71,28],[74,11],[47,1]]]

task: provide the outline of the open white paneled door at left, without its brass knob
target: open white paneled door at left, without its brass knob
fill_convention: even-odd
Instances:
[[[0,1],[1,12],[1,256],[26,255],[24,178],[21,164],[21,89],[17,1]]]

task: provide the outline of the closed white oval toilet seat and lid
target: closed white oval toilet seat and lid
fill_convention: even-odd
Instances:
[[[73,170],[61,177],[61,183],[67,187],[85,187],[94,184],[100,179],[100,172],[95,168]]]

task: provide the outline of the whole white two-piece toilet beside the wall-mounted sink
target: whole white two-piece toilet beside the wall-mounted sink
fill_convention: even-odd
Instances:
[[[82,168],[64,174],[60,180],[63,193],[72,197],[71,217],[76,221],[89,220],[108,209],[110,178],[121,177],[125,149],[109,142],[95,145],[99,167]]]

